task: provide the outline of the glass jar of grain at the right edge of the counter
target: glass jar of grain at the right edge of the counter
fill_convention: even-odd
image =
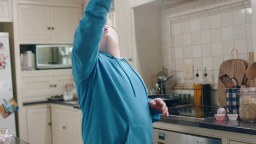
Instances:
[[[241,88],[237,93],[240,93],[240,118],[245,122],[256,122],[256,88]]]

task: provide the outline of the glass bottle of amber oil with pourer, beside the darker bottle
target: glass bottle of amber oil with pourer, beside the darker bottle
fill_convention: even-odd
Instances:
[[[202,83],[199,80],[198,68],[196,73],[196,79],[194,82],[194,99],[195,105],[202,105]]]

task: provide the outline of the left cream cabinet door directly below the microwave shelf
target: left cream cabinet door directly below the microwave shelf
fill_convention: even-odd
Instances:
[[[53,96],[53,76],[22,78],[23,101],[46,100]]]

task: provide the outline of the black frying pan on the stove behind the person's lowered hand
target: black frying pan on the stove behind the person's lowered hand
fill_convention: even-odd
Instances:
[[[174,95],[165,95],[165,94],[159,94],[159,95],[148,95],[149,99],[156,99],[160,98],[165,101],[165,104],[167,107],[172,106],[173,104],[177,103],[179,100],[179,96]]]

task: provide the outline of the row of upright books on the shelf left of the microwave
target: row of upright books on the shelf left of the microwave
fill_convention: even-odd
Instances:
[[[35,57],[32,51],[25,51],[20,54],[21,70],[36,70]]]

